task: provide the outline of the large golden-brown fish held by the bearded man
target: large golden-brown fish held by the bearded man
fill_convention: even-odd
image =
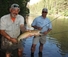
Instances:
[[[23,41],[24,38],[27,39],[28,37],[37,36],[37,35],[44,35],[44,34],[41,33],[41,31],[39,30],[31,30],[31,32],[26,31],[17,38],[17,41],[19,43],[20,41]],[[10,42],[10,45],[12,45],[12,42]]]

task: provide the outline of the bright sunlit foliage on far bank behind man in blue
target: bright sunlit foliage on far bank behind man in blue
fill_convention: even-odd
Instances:
[[[47,8],[49,14],[61,14],[65,11],[68,12],[68,0],[41,0],[40,2],[31,5],[31,13],[41,14],[42,8]],[[68,16],[68,13],[64,16]]]

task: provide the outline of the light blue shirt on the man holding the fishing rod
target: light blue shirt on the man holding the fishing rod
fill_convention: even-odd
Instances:
[[[31,26],[42,27],[41,32],[47,31],[48,29],[52,29],[50,19],[48,19],[47,17],[44,19],[42,16],[35,18]]]

